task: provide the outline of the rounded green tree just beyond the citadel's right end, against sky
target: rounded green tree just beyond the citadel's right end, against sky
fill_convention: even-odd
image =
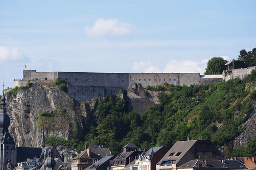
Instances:
[[[227,63],[222,57],[213,57],[207,63],[207,68],[205,69],[205,74],[222,74],[225,70],[225,64]]]

